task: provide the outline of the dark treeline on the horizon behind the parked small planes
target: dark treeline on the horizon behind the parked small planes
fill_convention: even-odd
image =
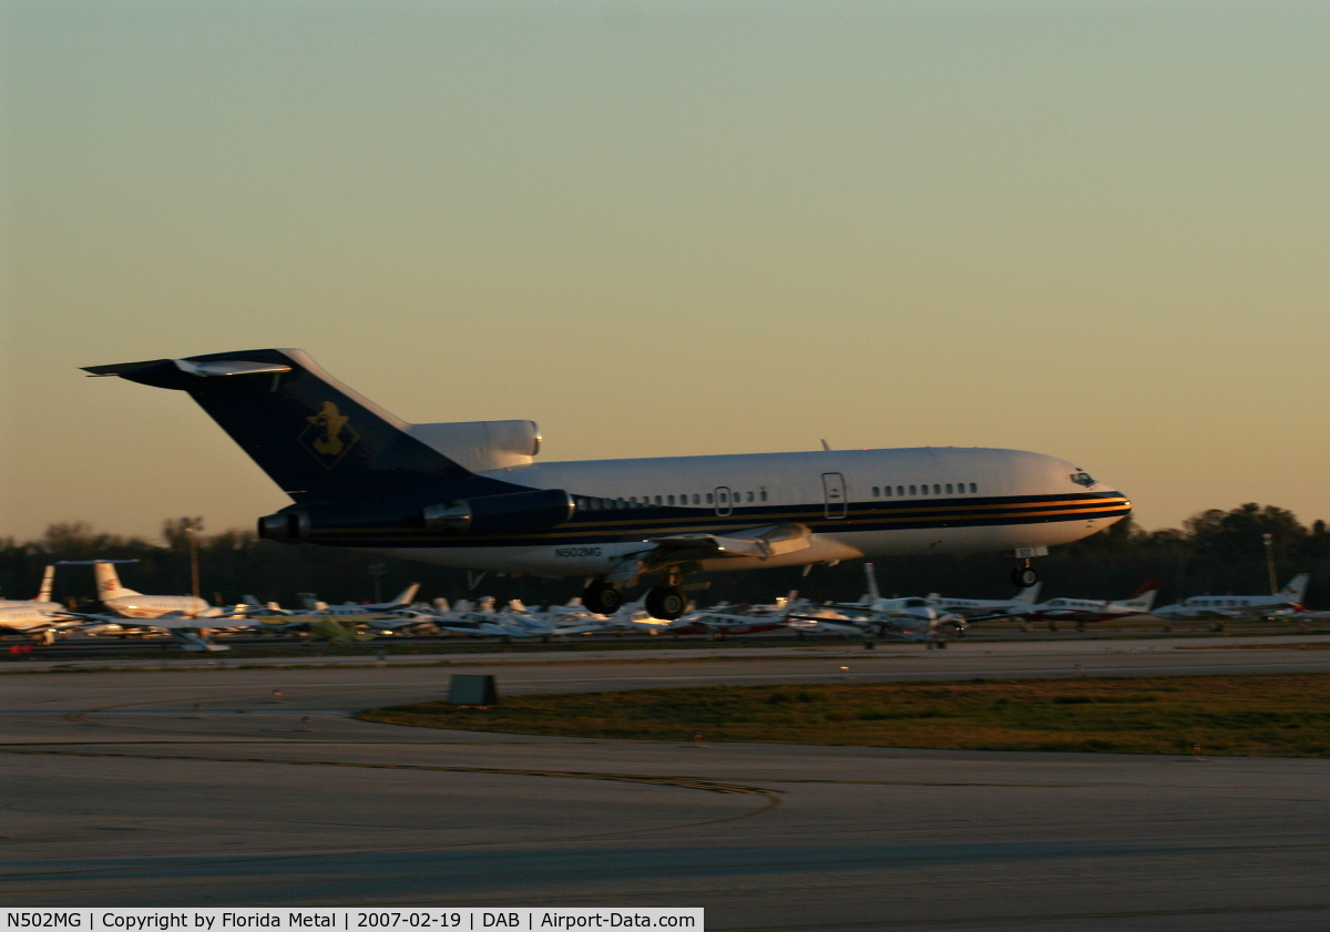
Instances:
[[[1068,546],[1055,548],[1036,561],[1044,596],[1125,598],[1141,582],[1160,582],[1160,604],[1202,593],[1264,593],[1269,590],[1266,546],[1270,534],[1278,584],[1295,573],[1311,573],[1307,605],[1330,608],[1330,532],[1325,521],[1305,526],[1273,505],[1246,504],[1230,511],[1210,509],[1182,528],[1145,532],[1130,520]],[[563,601],[576,596],[583,580],[544,580],[535,576],[496,577],[432,566],[338,548],[287,545],[258,540],[247,530],[200,534],[201,594],[214,602],[239,601],[253,594],[263,601],[295,605],[297,593],[313,592],[329,602],[378,601],[410,582],[420,582],[422,598],[444,596],[497,596],[528,604]],[[40,540],[0,541],[0,593],[32,598],[43,568],[59,560],[137,560],[121,566],[132,589],[154,594],[190,590],[189,532],[180,521],[166,521],[161,541],[93,530],[84,524],[56,524]],[[994,598],[1012,592],[1012,560],[1001,554],[890,557],[876,561],[884,594]],[[716,573],[706,590],[696,590],[704,605],[770,602],[791,589],[815,600],[857,598],[864,592],[863,564]],[[88,566],[65,566],[56,573],[56,597],[86,602],[94,585]]]

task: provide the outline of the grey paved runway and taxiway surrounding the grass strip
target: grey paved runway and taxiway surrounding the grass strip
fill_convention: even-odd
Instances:
[[[1330,670],[1330,650],[1176,649],[1208,643],[0,675],[0,901],[702,905],[712,929],[771,932],[1325,928],[1330,760],[696,747],[348,717],[467,671],[533,693]]]

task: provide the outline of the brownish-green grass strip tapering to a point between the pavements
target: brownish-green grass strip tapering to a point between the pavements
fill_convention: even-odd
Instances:
[[[1330,674],[705,686],[420,702],[359,718],[469,731],[992,751],[1330,757]]]

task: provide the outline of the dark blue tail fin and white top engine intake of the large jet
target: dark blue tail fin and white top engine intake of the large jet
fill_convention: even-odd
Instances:
[[[295,501],[387,497],[529,463],[532,421],[407,424],[302,350],[242,350],[90,366],[189,392]]]

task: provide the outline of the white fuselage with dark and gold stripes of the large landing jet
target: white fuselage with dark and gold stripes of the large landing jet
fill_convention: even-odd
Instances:
[[[458,538],[456,545],[450,540],[366,549],[471,569],[595,576],[661,536],[739,534],[770,525],[809,529],[809,545],[797,552],[698,561],[704,572],[758,569],[1068,544],[1130,511],[1121,493],[1087,481],[1072,463],[1012,449],[533,463],[483,475],[525,488],[567,489],[579,515],[568,525],[512,544]]]

